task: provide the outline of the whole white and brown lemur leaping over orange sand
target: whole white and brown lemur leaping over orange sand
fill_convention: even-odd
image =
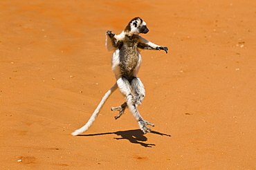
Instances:
[[[142,61],[139,49],[165,50],[165,53],[167,53],[168,48],[158,46],[139,36],[140,33],[146,34],[147,32],[149,32],[149,29],[145,21],[140,17],[131,19],[120,35],[115,35],[110,30],[106,32],[107,49],[114,51],[111,64],[113,73],[116,75],[116,84],[104,95],[89,121],[82,126],[82,128],[71,133],[72,135],[79,135],[89,129],[108,97],[113,91],[116,91],[117,88],[119,88],[120,92],[125,96],[126,102],[121,106],[111,108],[111,111],[119,111],[119,114],[115,118],[120,117],[122,113],[124,113],[125,108],[128,107],[143,133],[151,131],[147,125],[154,126],[154,124],[143,120],[143,117],[141,117],[137,109],[137,107],[143,103],[145,97],[143,83],[136,77]]]

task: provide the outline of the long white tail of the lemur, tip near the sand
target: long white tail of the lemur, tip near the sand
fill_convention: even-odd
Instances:
[[[84,126],[82,126],[82,128],[77,129],[76,131],[71,133],[71,135],[80,135],[81,133],[84,133],[85,131],[87,131],[89,129],[91,124],[93,124],[93,122],[95,121],[96,117],[98,116],[98,113],[100,113],[100,109],[102,108],[104,103],[107,101],[109,96],[113,93],[113,91],[116,91],[116,88],[118,88],[117,84],[113,85],[113,87],[111,87],[109,89],[109,91],[107,91],[107,93],[102,97],[102,100],[100,101],[100,104],[97,106],[97,108],[93,112],[93,115],[91,115],[91,117],[88,120],[88,122]]]

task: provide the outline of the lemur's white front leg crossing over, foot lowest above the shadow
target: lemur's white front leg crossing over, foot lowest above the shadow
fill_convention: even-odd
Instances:
[[[132,87],[129,84],[129,81],[125,77],[120,77],[117,81],[117,84],[120,92],[123,95],[125,95],[129,111],[131,111],[131,115],[133,115],[134,118],[138,121],[138,125],[140,126],[141,131],[143,131],[143,133],[150,132],[151,129],[148,128],[147,125],[149,124],[151,126],[154,126],[154,124],[143,120],[143,117],[141,117],[140,113],[138,112],[138,109],[136,107],[136,102],[134,100],[134,95],[132,94],[132,91],[131,91]]]

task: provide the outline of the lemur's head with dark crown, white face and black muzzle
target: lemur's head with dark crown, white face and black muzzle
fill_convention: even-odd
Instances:
[[[136,17],[131,19],[124,31],[126,35],[138,35],[140,33],[147,34],[149,29],[147,28],[147,23],[145,23],[143,19]]]

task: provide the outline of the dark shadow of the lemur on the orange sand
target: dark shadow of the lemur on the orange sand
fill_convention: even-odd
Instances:
[[[157,131],[151,131],[156,135],[166,135],[171,137],[171,135],[167,135],[164,133],[160,133]],[[96,133],[96,134],[89,134],[89,135],[78,135],[78,136],[94,136],[94,135],[109,135],[109,134],[116,134],[120,135],[120,138],[114,138],[116,140],[129,140],[129,142],[133,144],[140,144],[143,147],[152,147],[156,146],[156,144],[146,144],[147,138],[145,137],[144,133],[140,129],[136,130],[129,130],[129,131],[116,131],[116,132],[109,132],[109,133]]]

